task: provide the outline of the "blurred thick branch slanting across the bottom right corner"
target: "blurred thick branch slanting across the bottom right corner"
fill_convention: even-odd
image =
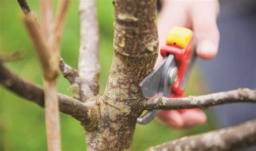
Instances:
[[[164,143],[147,150],[237,150],[256,143],[256,120]]]

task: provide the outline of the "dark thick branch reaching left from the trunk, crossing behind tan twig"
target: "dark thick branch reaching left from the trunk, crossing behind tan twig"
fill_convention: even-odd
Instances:
[[[35,102],[44,107],[43,88],[17,77],[0,62],[0,83],[17,95]],[[91,121],[97,118],[97,107],[93,104],[84,104],[76,99],[58,93],[59,111],[73,116],[79,121]],[[90,112],[89,112],[90,111]],[[95,116],[95,117],[94,117]],[[93,121],[95,122],[95,121]]]

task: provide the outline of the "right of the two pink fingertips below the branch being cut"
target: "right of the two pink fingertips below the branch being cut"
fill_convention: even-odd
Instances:
[[[183,118],[183,127],[192,127],[206,122],[207,116],[200,109],[186,109],[180,112]]]

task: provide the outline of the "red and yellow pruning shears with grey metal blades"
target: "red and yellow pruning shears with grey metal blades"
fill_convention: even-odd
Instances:
[[[161,47],[160,54],[164,57],[157,66],[140,83],[145,98],[184,97],[187,81],[196,61],[196,38],[190,29],[174,26]],[[145,125],[151,122],[160,110],[149,110],[137,119],[137,123]]]

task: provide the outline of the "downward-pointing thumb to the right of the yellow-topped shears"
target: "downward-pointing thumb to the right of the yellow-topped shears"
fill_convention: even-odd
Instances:
[[[218,1],[193,2],[190,15],[193,31],[198,39],[197,53],[203,59],[217,55],[219,47],[219,30],[216,23]]]

